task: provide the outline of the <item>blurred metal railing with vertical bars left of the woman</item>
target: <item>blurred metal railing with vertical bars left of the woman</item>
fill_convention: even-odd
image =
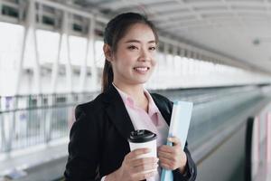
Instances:
[[[75,106],[96,94],[0,97],[0,153],[68,137]]]

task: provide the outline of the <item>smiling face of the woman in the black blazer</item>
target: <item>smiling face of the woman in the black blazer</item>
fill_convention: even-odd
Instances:
[[[113,54],[114,83],[135,85],[148,81],[156,64],[155,49],[152,29],[146,24],[132,25]]]

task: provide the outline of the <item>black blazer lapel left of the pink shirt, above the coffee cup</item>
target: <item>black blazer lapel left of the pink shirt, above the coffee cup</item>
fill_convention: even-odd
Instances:
[[[126,106],[113,85],[110,85],[105,92],[104,101],[108,104],[106,110],[110,120],[115,124],[118,132],[127,139],[130,132],[135,129]]]

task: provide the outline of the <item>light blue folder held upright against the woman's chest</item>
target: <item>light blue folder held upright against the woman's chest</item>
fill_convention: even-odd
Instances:
[[[192,117],[192,107],[193,103],[188,101],[175,101],[173,103],[173,113],[168,137],[179,138],[182,143],[182,150],[185,146]],[[167,141],[166,145],[172,146],[172,143]],[[161,181],[173,181],[173,171],[163,169]]]

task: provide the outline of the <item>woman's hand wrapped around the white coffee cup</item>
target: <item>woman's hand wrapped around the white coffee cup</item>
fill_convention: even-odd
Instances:
[[[122,162],[122,166],[118,169],[119,180],[145,180],[157,174],[159,159],[157,157],[142,157],[149,152],[151,152],[149,148],[139,148],[128,153]],[[145,172],[148,170],[154,171]]]

